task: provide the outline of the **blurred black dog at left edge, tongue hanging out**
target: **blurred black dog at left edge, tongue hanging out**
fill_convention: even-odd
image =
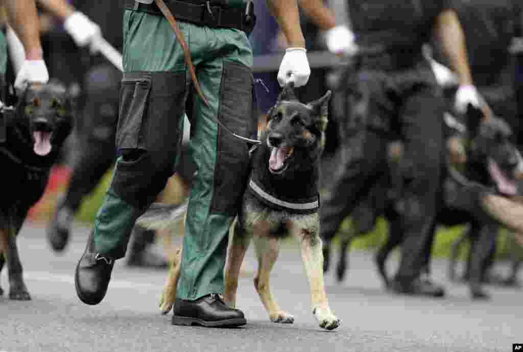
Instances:
[[[7,263],[9,298],[30,300],[22,278],[16,236],[28,210],[42,196],[51,167],[73,124],[73,108],[65,87],[50,82],[27,89],[13,111],[0,120],[0,270]],[[0,288],[0,295],[3,290]]]

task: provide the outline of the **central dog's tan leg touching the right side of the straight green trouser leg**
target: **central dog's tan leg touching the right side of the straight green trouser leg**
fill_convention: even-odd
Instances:
[[[238,278],[240,277],[243,259],[251,242],[251,238],[252,235],[246,233],[236,218],[234,224],[231,226],[231,241],[229,243],[229,254],[225,267],[224,300],[231,308],[236,307]]]

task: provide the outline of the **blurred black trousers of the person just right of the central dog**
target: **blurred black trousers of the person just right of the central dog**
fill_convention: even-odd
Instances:
[[[365,68],[350,85],[348,125],[356,131],[339,152],[346,156],[322,200],[321,235],[334,237],[344,218],[366,197],[387,162],[392,131],[404,143],[400,212],[404,231],[396,279],[406,283],[419,276],[436,214],[443,156],[443,98],[425,61],[402,69]]]

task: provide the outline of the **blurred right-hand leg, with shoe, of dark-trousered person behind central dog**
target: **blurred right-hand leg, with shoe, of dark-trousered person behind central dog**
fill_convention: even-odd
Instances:
[[[404,242],[393,288],[405,294],[442,296],[444,290],[419,280],[430,253],[443,156],[443,101],[435,87],[419,85],[403,98],[400,111],[404,154],[402,210]]]

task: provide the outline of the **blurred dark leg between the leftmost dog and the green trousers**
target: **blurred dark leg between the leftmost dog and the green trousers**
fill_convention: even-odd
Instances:
[[[82,127],[76,129],[79,150],[71,180],[49,224],[48,239],[55,251],[69,241],[73,216],[115,161],[115,131],[121,73],[112,66],[96,66],[86,74]]]

